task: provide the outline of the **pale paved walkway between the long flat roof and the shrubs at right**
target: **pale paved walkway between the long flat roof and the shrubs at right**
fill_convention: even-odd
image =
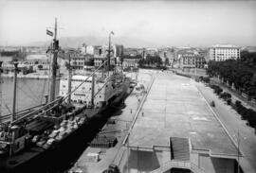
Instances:
[[[227,105],[224,100],[213,94],[213,90],[210,87],[206,87],[203,83],[194,83],[209,103],[214,100],[215,108],[213,108],[213,111],[216,112],[236,144],[239,130],[240,150],[245,155],[245,158],[240,159],[240,164],[245,172],[256,172],[256,135],[254,130],[246,125],[246,121],[241,120],[240,114]]]

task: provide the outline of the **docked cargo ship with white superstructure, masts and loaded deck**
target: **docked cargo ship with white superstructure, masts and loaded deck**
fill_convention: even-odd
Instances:
[[[14,62],[13,112],[9,121],[0,123],[1,173],[21,172],[24,166],[33,166],[41,158],[47,160],[68,149],[76,149],[74,147],[82,145],[86,134],[92,133],[93,122],[97,124],[99,119],[107,119],[109,110],[119,106],[129,95],[129,78],[109,71],[109,43],[108,57],[100,67],[86,75],[69,73],[67,78],[61,78],[60,92],[55,96],[60,50],[56,38],[57,20],[55,32],[47,31],[47,34],[54,35],[53,46],[48,49],[53,54],[50,97],[41,107],[23,114],[15,113],[18,63]],[[98,119],[93,120],[94,117]]]

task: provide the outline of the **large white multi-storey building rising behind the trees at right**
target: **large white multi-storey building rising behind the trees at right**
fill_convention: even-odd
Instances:
[[[240,59],[240,47],[235,45],[214,45],[210,47],[210,61],[227,61]]]

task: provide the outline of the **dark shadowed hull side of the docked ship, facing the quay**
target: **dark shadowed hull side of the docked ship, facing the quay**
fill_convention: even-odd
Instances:
[[[82,112],[80,116],[84,116],[84,113],[87,114],[84,123],[57,144],[46,149],[34,145],[10,158],[8,156],[0,158],[0,172],[64,172],[68,168],[68,164],[72,164],[78,159],[82,151],[104,126],[111,113],[117,110],[130,94],[128,81],[125,81],[121,87],[123,87],[122,92],[114,96],[109,104],[94,109],[90,113]]]

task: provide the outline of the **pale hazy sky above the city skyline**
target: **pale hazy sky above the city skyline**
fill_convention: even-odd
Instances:
[[[48,41],[55,17],[58,37],[107,38],[113,30],[114,42],[132,46],[256,45],[256,1],[145,0],[0,0],[0,45]]]

